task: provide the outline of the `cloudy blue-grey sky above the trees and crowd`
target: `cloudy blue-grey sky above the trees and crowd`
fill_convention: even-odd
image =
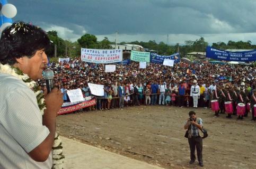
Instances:
[[[14,21],[32,22],[76,41],[85,33],[98,40],[155,40],[184,44],[201,36],[213,42],[256,44],[254,0],[7,0],[17,7]]]

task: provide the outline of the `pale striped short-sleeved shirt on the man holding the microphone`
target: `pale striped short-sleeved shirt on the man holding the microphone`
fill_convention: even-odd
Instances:
[[[0,73],[0,168],[51,168],[28,153],[49,135],[34,92],[11,75]]]

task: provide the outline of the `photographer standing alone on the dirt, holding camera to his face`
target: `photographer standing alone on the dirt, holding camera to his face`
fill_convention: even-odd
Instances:
[[[204,137],[202,126],[202,119],[197,118],[196,112],[190,111],[189,118],[184,125],[184,129],[187,129],[185,137],[188,138],[190,147],[189,164],[193,164],[196,161],[195,148],[197,148],[197,158],[201,167],[204,166],[202,162],[202,137]]]

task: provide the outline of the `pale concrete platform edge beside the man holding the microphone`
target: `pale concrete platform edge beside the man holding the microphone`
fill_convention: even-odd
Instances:
[[[61,137],[65,169],[163,169],[136,159],[108,152],[73,139]]]

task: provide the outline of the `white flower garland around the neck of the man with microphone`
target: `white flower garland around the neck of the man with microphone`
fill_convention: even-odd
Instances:
[[[45,99],[43,93],[39,90],[37,82],[29,78],[27,74],[24,74],[20,69],[11,67],[8,64],[0,63],[0,73],[10,74],[17,79],[22,80],[31,90],[37,98],[37,104],[40,109],[41,115],[43,116],[46,109]],[[63,146],[59,135],[55,133],[54,145],[52,146],[52,169],[62,169],[64,165]]]

